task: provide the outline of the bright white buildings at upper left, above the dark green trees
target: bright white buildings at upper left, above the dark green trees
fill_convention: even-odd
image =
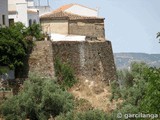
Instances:
[[[34,0],[8,0],[9,24],[22,22],[28,27],[39,23],[39,11],[33,6]]]

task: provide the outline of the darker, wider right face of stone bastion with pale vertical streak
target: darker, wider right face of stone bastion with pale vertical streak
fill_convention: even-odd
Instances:
[[[53,58],[68,62],[77,77],[103,80],[115,78],[115,64],[110,41],[53,42]]]

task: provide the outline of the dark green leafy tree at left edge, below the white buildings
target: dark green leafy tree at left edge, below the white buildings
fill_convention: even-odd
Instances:
[[[10,68],[22,65],[26,56],[27,44],[23,39],[23,24],[0,28],[0,63]]]

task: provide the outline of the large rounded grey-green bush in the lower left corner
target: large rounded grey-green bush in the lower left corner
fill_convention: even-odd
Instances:
[[[6,120],[47,120],[73,108],[73,96],[63,91],[54,80],[32,76],[23,90],[4,101],[0,112]]]

